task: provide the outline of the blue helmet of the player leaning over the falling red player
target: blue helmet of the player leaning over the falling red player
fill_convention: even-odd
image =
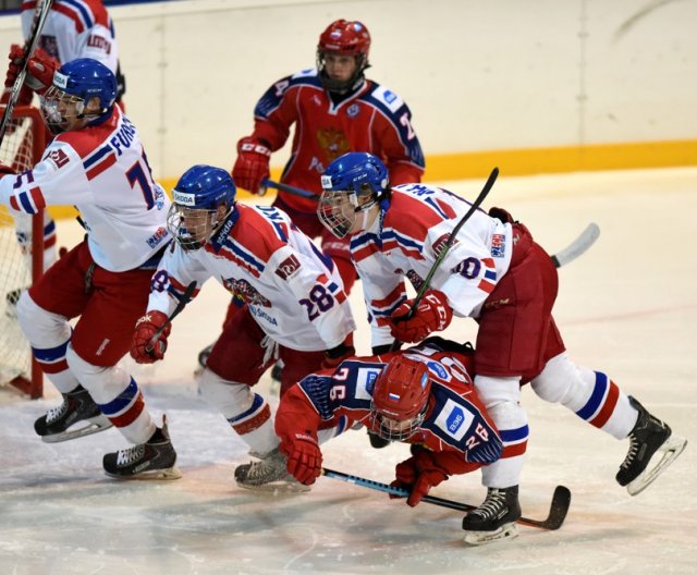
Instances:
[[[356,213],[367,215],[369,208],[389,199],[390,194],[388,169],[379,158],[365,151],[350,151],[337,158],[322,174],[321,184],[317,216],[337,237],[357,231]]]

